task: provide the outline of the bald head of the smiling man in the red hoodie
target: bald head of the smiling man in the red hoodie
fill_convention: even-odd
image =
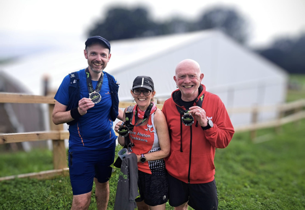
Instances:
[[[193,101],[198,97],[203,76],[199,64],[194,60],[183,60],[177,65],[174,80],[181,91],[183,101]]]

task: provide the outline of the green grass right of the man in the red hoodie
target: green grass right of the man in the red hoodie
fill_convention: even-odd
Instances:
[[[297,129],[293,123],[285,125],[282,135],[259,144],[251,143],[247,133],[238,134],[218,150],[220,209],[305,209],[303,128],[305,120]]]

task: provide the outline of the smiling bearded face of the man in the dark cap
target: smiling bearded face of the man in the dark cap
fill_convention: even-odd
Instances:
[[[101,73],[107,66],[111,54],[109,49],[96,43],[84,50],[85,58],[88,60],[89,69],[95,73]]]

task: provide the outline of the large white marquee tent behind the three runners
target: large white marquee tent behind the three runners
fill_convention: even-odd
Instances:
[[[194,59],[205,75],[202,83],[227,108],[285,102],[285,71],[218,31],[117,40],[110,44],[112,56],[105,70],[121,84],[121,101],[132,100],[130,89],[138,75],[153,78],[158,100],[169,98],[176,89],[175,66],[181,60]],[[24,57],[14,64],[0,66],[0,73],[4,71],[29,93],[41,95],[44,75],[50,75],[51,88],[57,90],[65,75],[87,67],[84,48],[84,43],[75,43],[60,51]],[[275,114],[260,114],[259,120]],[[236,114],[231,118],[234,125],[239,125],[248,123],[250,115]]]

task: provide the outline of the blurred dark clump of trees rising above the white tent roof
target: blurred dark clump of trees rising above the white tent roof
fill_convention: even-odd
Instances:
[[[247,22],[234,9],[214,8],[204,13],[197,21],[174,17],[157,23],[151,20],[145,8],[112,8],[106,18],[89,31],[90,36],[101,35],[108,40],[154,36],[171,33],[218,28],[227,35],[244,43],[247,39]]]

